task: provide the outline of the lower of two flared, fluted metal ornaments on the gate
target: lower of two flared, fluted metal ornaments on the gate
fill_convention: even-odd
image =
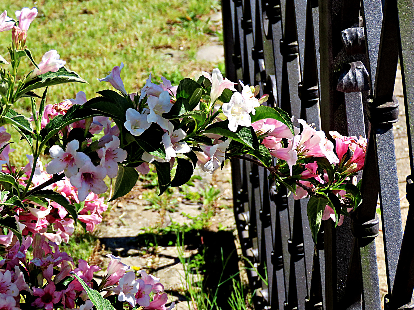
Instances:
[[[354,93],[356,91],[368,91],[368,71],[362,62],[356,61],[342,66],[339,76],[337,91],[343,93]]]

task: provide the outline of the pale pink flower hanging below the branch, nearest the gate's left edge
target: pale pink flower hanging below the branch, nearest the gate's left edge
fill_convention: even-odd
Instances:
[[[197,155],[197,165],[200,165],[200,168],[209,173],[213,173],[217,168],[220,167],[223,162],[226,149],[229,147],[231,138],[228,138],[225,142],[219,140],[217,144],[214,145],[200,145],[200,148],[203,152],[194,151]]]

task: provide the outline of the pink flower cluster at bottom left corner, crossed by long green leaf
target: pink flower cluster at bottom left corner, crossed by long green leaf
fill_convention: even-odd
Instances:
[[[27,250],[32,246],[33,258],[29,260]],[[71,277],[76,274],[89,287],[105,292],[105,297],[116,295],[120,302],[132,307],[140,305],[146,310],[167,309],[167,294],[159,279],[123,264],[119,257],[108,254],[111,261],[103,272],[101,283],[94,280],[94,273],[101,271],[96,265],[79,260],[75,267],[72,258],[60,252],[56,243],[46,242],[45,237],[34,234],[33,238],[23,237],[22,243],[13,238],[8,253],[0,261],[0,309],[19,310],[57,308],[90,310],[93,304],[82,284]],[[23,302],[24,300],[24,302]]]

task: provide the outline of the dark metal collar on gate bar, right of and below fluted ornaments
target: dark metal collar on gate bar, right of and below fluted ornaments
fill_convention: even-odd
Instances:
[[[386,102],[375,107],[375,103],[368,98],[368,119],[371,124],[385,125],[398,122],[398,100],[393,95],[392,102]]]

